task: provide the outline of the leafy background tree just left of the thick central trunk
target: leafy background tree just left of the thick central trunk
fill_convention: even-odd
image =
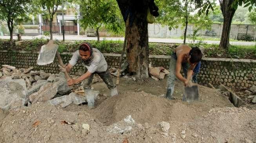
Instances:
[[[78,0],[80,5],[81,27],[91,27],[96,30],[98,42],[100,41],[99,29],[105,28],[113,32],[120,31],[124,23],[116,0]]]

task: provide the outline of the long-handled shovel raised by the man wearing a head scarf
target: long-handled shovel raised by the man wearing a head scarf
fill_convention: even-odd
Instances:
[[[60,53],[58,52],[58,45],[53,43],[53,40],[50,40],[48,44],[43,45],[41,47],[40,53],[37,58],[36,64],[45,65],[53,63],[55,54],[57,56],[58,62],[60,66],[65,67],[60,57]],[[70,79],[67,71],[64,72],[66,79]]]

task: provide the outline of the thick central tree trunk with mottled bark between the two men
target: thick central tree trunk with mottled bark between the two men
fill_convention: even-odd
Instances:
[[[149,46],[147,31],[147,9],[149,0],[117,0],[123,18],[129,15],[127,27],[127,53],[129,72],[138,79],[149,77]]]

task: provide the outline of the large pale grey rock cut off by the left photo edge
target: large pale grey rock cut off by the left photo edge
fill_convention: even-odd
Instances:
[[[24,79],[0,80],[0,108],[8,110],[25,104]]]

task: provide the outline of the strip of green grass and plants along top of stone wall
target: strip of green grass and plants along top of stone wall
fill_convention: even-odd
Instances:
[[[25,50],[38,52],[42,45],[47,44],[47,39],[33,39],[25,40],[21,46],[15,46],[15,41],[1,40],[0,50]],[[74,52],[78,49],[78,46],[85,41],[59,41],[55,43],[59,45],[58,51],[62,52]],[[98,48],[102,53],[114,53],[121,54],[123,49],[123,41],[86,41],[93,47]],[[150,55],[171,55],[174,48],[180,44],[173,43],[149,43]],[[217,58],[240,58],[240,59],[256,59],[256,46],[230,46],[229,50],[219,49],[219,45],[216,44],[188,44],[189,46],[200,46],[204,49],[206,57]]]

